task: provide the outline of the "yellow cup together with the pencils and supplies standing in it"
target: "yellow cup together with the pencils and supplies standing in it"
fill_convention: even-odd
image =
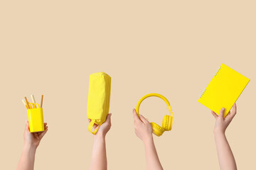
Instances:
[[[36,103],[36,100],[33,95],[31,95],[31,99],[33,103],[29,103],[28,99],[25,97],[22,100],[23,104],[26,106],[28,110],[28,124],[30,132],[42,132],[44,131],[44,123],[43,123],[43,108]],[[41,106],[43,106],[43,95],[41,98]]]

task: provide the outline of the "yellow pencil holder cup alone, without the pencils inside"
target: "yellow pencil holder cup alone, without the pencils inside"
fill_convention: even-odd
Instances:
[[[43,108],[28,109],[28,123],[30,132],[44,131]]]

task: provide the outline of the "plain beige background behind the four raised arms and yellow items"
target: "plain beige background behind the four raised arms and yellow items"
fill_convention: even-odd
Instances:
[[[154,137],[164,169],[218,169],[215,120],[198,103],[220,64],[250,78],[227,130],[239,169],[256,169],[255,1],[1,1],[0,169],[15,169],[27,120],[21,103],[44,94],[48,133],[35,169],[88,169],[89,75],[112,77],[109,169],[145,169],[132,108],[145,94],[169,98],[174,127]],[[168,113],[159,98],[149,120]]]

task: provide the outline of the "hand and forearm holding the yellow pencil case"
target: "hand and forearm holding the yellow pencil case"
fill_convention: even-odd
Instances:
[[[94,135],[94,142],[92,147],[92,159],[90,163],[90,170],[106,170],[107,169],[107,152],[106,152],[106,140],[107,132],[111,128],[111,115],[107,115],[105,123],[100,125],[99,130]],[[90,122],[91,120],[89,120]],[[97,125],[93,125],[93,129],[96,129]]]

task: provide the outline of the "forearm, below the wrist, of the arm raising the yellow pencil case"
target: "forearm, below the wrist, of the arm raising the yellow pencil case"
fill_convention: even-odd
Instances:
[[[105,136],[95,135],[92,147],[92,160],[90,170],[105,170],[107,169],[107,153]]]

